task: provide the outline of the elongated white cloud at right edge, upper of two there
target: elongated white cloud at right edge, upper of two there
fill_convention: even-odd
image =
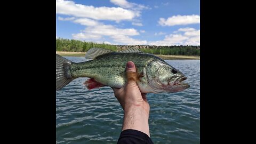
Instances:
[[[175,25],[189,25],[194,23],[200,23],[199,15],[174,15],[168,19],[160,18],[158,23],[161,26],[175,26]]]

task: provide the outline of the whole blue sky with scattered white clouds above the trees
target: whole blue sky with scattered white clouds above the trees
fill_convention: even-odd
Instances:
[[[115,45],[200,45],[200,1],[56,0],[56,37]]]

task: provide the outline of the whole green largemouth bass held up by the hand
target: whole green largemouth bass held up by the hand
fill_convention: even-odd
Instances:
[[[85,62],[72,62],[56,54],[56,91],[78,77],[88,77],[84,85],[92,90],[103,86],[122,88],[132,78],[141,93],[180,92],[190,87],[187,77],[156,55],[131,47],[114,52],[93,47],[85,54]],[[132,61],[136,72],[126,71]]]

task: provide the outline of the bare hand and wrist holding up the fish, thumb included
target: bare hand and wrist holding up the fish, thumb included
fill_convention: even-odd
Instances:
[[[126,72],[136,72],[132,61],[127,62]],[[127,75],[128,82],[121,89],[115,89],[114,94],[124,109],[123,130],[135,129],[149,135],[149,103],[146,93],[141,93],[132,75]]]

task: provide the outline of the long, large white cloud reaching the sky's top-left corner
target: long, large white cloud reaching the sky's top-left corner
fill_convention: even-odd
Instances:
[[[56,0],[56,13],[95,20],[132,20],[138,13],[121,7],[94,7],[76,4],[73,1]]]

